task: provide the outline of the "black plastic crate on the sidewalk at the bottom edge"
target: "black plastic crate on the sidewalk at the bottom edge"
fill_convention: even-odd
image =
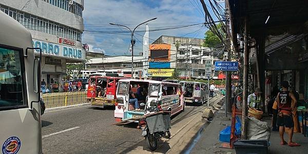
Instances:
[[[237,140],[233,145],[237,154],[267,154],[269,143],[267,140]]]

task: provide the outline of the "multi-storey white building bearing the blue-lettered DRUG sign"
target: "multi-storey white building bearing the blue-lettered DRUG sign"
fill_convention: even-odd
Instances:
[[[85,60],[83,0],[0,0],[0,9],[31,32],[33,47],[42,49],[42,78],[54,90],[63,84],[67,62]]]

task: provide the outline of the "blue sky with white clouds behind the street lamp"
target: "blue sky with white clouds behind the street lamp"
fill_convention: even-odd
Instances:
[[[205,1],[206,2],[206,1]],[[83,19],[85,31],[82,42],[89,50],[105,55],[131,55],[130,32],[116,23],[134,29],[144,21],[148,22],[149,42],[161,35],[204,38],[207,30],[202,25],[191,27],[151,31],[183,25],[204,23],[204,11],[199,0],[85,0]],[[145,25],[136,29],[134,55],[142,52]]]

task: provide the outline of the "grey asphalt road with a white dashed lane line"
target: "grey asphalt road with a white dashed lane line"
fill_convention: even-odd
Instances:
[[[173,117],[180,122],[187,113],[201,106],[186,106],[185,112]],[[46,112],[42,116],[44,153],[119,153],[144,138],[137,123],[112,125],[114,107],[82,106]]]

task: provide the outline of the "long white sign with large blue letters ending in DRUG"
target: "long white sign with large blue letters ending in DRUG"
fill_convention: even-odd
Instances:
[[[32,39],[34,48],[41,48],[43,55],[58,56],[69,59],[85,60],[86,54],[83,49]],[[36,50],[40,53],[40,50]]]

